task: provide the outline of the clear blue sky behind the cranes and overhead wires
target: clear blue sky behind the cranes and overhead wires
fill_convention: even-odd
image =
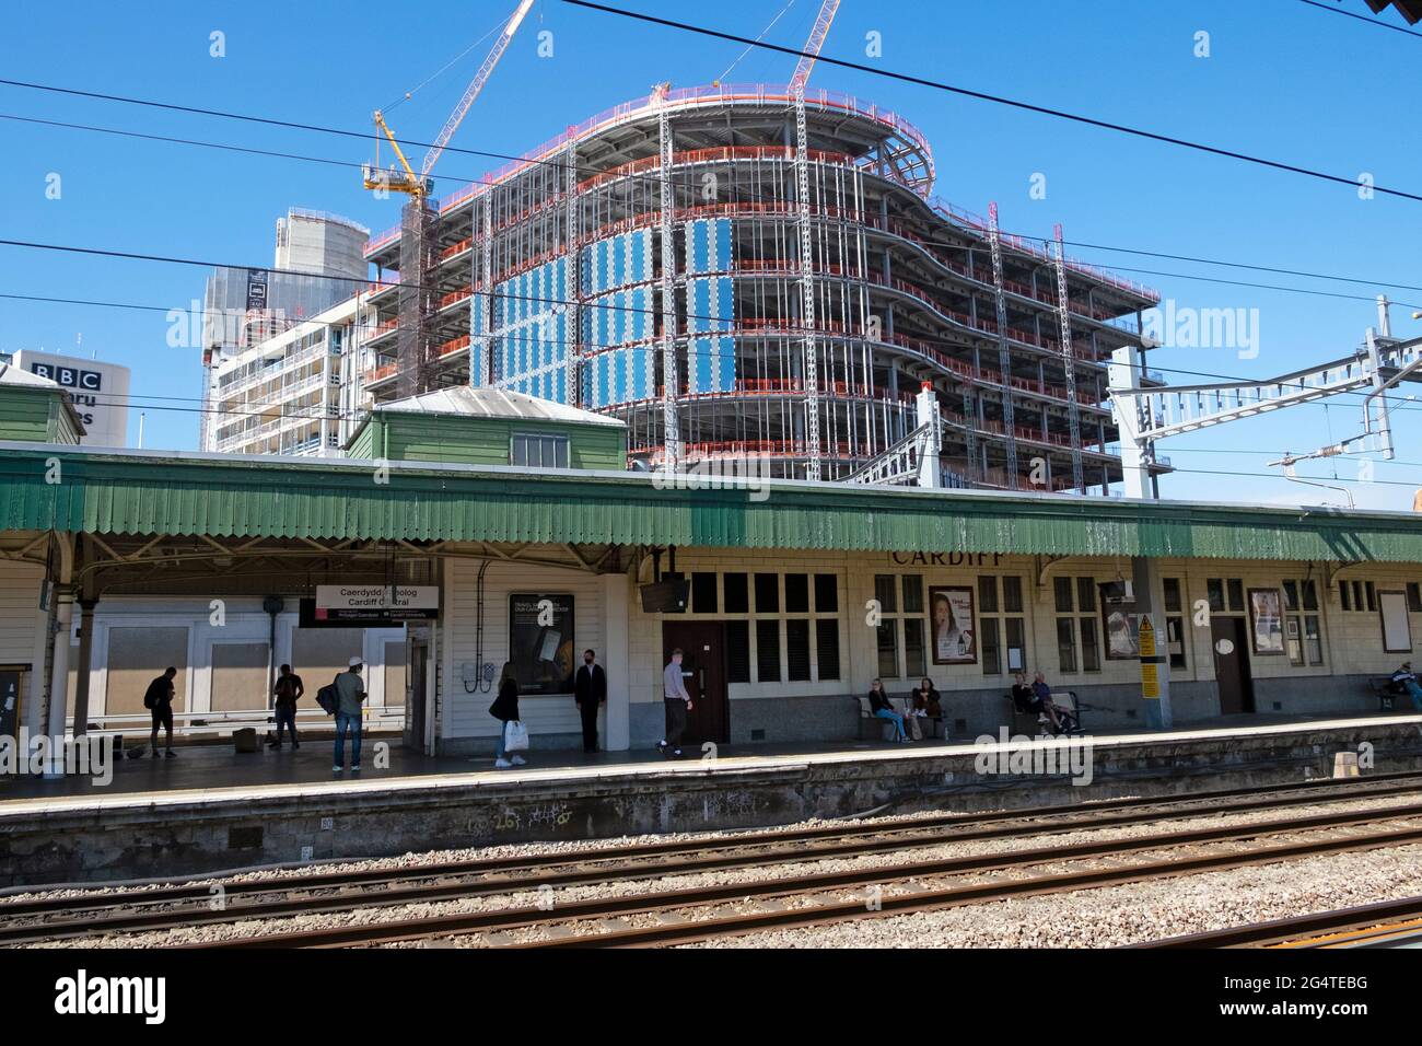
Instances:
[[[626,6],[757,36],[784,0],[717,4],[627,0]],[[1367,13],[1361,0],[1345,10]],[[148,3],[142,14],[109,3],[27,9],[0,37],[6,78],[365,131],[371,110],[398,100],[469,47],[512,10],[512,0],[428,3],[193,4]],[[801,46],[815,0],[795,0],[768,40]],[[1401,24],[1396,16],[1385,16]],[[539,57],[539,33],[552,57]],[[209,54],[225,34],[226,56]],[[1210,57],[1196,57],[1209,33]],[[865,54],[877,33],[883,54]],[[488,44],[390,111],[402,137],[428,141],[444,122]],[[518,154],[607,105],[720,77],[737,44],[638,24],[539,0],[455,145]],[[1422,135],[1413,124],[1411,75],[1422,38],[1379,30],[1297,0],[953,0],[907,4],[843,0],[825,53],[1422,192]],[[734,81],[782,83],[786,56],[752,51]],[[937,158],[937,194],[985,212],[998,201],[1005,229],[1045,236],[1062,222],[1068,241],[1274,265],[1422,285],[1422,202],[1247,167],[867,73],[820,65],[815,85],[849,91],[900,111]],[[0,114],[198,138],[348,162],[368,159],[361,141],[161,112],[0,85]],[[289,206],[333,211],[373,229],[397,219],[350,168],[219,152],[0,121],[0,236],[114,250],[269,265],[274,221]],[[435,171],[479,178],[501,161],[447,154]],[[47,179],[61,178],[60,199]],[[1047,198],[1030,196],[1045,175]],[[1285,373],[1345,356],[1375,323],[1368,300],[1285,293],[1186,279],[1256,280],[1369,297],[1376,287],[1072,249],[1172,299],[1177,309],[1257,312],[1257,353],[1175,347],[1153,366],[1244,377]],[[1150,269],[1159,273],[1132,272]],[[4,293],[87,297],[186,307],[205,270],[0,248]],[[1411,312],[1422,290],[1394,290],[1394,333],[1422,334]],[[1249,312],[1246,312],[1249,315]],[[201,366],[196,350],[166,344],[162,312],[0,299],[0,349],[84,352],[134,369],[146,411],[148,445],[196,444]],[[1186,381],[1185,374],[1167,374]],[[1422,386],[1405,391],[1422,393]],[[137,406],[137,403],[135,403]],[[137,434],[131,413],[131,441]],[[1394,411],[1399,463],[1422,461],[1422,401]],[[1359,430],[1358,397],[1298,407],[1162,444],[1182,471],[1166,497],[1313,502],[1341,495],[1277,477],[1270,454],[1313,450]],[[1379,463],[1359,482],[1357,458],[1311,463],[1301,475],[1347,482],[1359,507],[1409,508],[1422,485],[1416,464]],[[1247,472],[1244,477],[1209,472]]]

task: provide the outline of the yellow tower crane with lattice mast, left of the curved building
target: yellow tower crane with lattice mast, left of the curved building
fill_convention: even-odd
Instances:
[[[400,141],[385,122],[385,115],[380,110],[374,112],[375,127],[390,141],[398,168],[391,165],[388,169],[381,169],[380,138],[377,137],[375,162],[363,165],[361,181],[367,189],[402,192],[410,196],[410,202],[405,204],[401,212],[400,299],[398,329],[395,334],[401,396],[417,396],[428,391],[435,384],[437,360],[432,337],[435,293],[429,283],[429,276],[434,269],[437,250],[437,213],[429,204],[434,186],[429,172],[445,151],[455,130],[458,130],[461,121],[469,112],[474,100],[479,97],[479,93],[492,75],[495,65],[499,64],[499,58],[503,57],[509,43],[513,40],[513,34],[518,33],[530,7],[533,7],[533,0],[519,0],[519,6],[503,24],[498,38],[493,41],[493,47],[489,48],[489,54],[465,88],[459,104],[454,107],[449,118],[439,128],[439,134],[419,165],[419,174],[415,174],[404,149],[400,148]]]

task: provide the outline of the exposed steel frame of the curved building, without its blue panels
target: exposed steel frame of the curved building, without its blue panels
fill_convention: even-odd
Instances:
[[[475,320],[479,336],[465,339],[472,379],[509,380],[496,350],[508,300],[495,293],[565,259],[567,296],[550,302],[569,320],[566,357],[553,354],[566,367],[557,386],[565,400],[582,404],[582,374],[602,353],[643,354],[648,373],[660,374],[651,398],[600,407],[627,421],[636,457],[675,465],[764,451],[778,455],[774,470],[785,475],[843,478],[916,428],[903,390],[927,380],[950,482],[1027,485],[1022,448],[1055,464],[1058,488],[1068,460],[1082,488],[1084,453],[1094,480],[1119,475],[1105,453],[1115,428],[1098,371],[1130,340],[1113,319],[1143,307],[1139,295],[1003,235],[995,208],[975,221],[926,202],[900,181],[882,138],[863,144],[867,118],[846,130],[843,114],[830,118],[801,93],[788,101],[791,108],[766,102],[744,115],[656,104],[640,124],[619,122],[616,138],[569,137],[553,161],[525,165],[451,206],[439,253],[459,259],[468,250],[469,262],[437,269],[442,278],[468,273],[472,289],[439,285],[441,344],[458,349],[459,316]],[[691,222],[707,218],[725,219],[724,272],[695,272],[691,262]],[[647,312],[636,305],[643,299],[610,303],[590,292],[582,258],[630,231],[647,231],[660,260],[650,280],[619,276],[619,287],[650,292],[654,326],[638,319],[648,334],[640,340],[627,310]],[[1037,286],[1044,260],[1055,268],[1055,293],[1045,280]],[[690,280],[701,278],[731,280],[734,312],[684,330]],[[474,297],[468,310],[461,295]],[[617,333],[602,337],[607,344],[584,330],[583,316],[600,309],[620,312]],[[1079,353],[1074,323],[1084,330]],[[388,337],[387,326],[375,324],[377,339]],[[535,330],[552,336],[550,324]],[[707,387],[691,366],[690,346],[708,330],[727,340],[700,352],[715,361],[718,346],[734,352],[734,389]],[[388,340],[373,350],[388,357],[381,346]],[[458,352],[448,359],[459,366]],[[1094,440],[1085,451],[1084,428]]]

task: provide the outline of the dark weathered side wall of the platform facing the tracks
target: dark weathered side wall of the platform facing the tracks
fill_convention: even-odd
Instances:
[[[236,867],[408,851],[749,828],[892,804],[993,810],[1327,777],[1334,753],[1372,746],[1371,773],[1422,770],[1416,719],[1142,736],[1096,743],[1094,781],[981,773],[988,753],[948,746],[815,757],[724,759],[593,771],[272,786],[191,797],[0,804],[0,885],[199,875]],[[1079,741],[1078,741],[1079,744]],[[1005,767],[1004,767],[1005,770]]]

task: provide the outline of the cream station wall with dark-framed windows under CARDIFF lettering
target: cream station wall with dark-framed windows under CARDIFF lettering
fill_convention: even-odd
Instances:
[[[1251,589],[1278,593],[1287,648],[1281,653],[1246,650],[1256,712],[1308,714],[1375,709],[1367,679],[1391,673],[1411,656],[1384,649],[1379,613],[1368,611],[1367,603],[1362,611],[1342,609],[1338,582],[1371,583],[1375,593],[1385,589],[1406,593],[1409,583],[1422,585],[1422,566],[1404,568],[1399,574],[1398,568],[1386,565],[1355,565],[1335,576],[1321,565],[1303,562],[1167,559],[1158,566],[1155,616],[1162,629],[1160,646],[1175,655],[1170,690],[1177,723],[1220,714],[1210,619],[1239,619],[1243,633],[1253,640]],[[715,612],[700,613],[693,598],[685,615],[643,613],[636,583],[650,576],[627,579],[629,660],[626,667],[607,663],[607,670],[610,679],[624,676],[627,680],[633,746],[654,743],[661,734],[663,623],[695,619],[745,622],[735,630],[735,639],[731,635],[727,639],[729,657],[742,663],[744,680],[728,685],[732,743],[852,737],[857,703],[850,697],[867,692],[875,676],[902,700],[920,675],[927,675],[944,693],[950,730],[960,734],[995,730],[1003,722],[1004,694],[1012,683],[1011,665],[1018,663],[1010,663],[1012,643],[1008,640],[1015,638],[1010,628],[1021,629],[1022,670],[1031,676],[1041,669],[1052,687],[1074,690],[1082,700],[1099,706],[1101,710],[1091,716],[1094,726],[1143,724],[1148,717],[1148,704],[1139,696],[1139,662],[1133,655],[1106,656],[1106,615],[1096,589],[1098,583],[1129,578],[1129,558],[1038,562],[1031,556],[947,552],[920,556],[683,548],[677,552],[677,568],[688,578],[714,575]],[[727,611],[728,574],[748,575],[749,602],[744,611]],[[757,574],[774,576],[776,609],[762,611],[757,605]],[[795,582],[796,592],[809,593],[808,602],[796,609],[789,606],[786,575],[808,575]],[[833,609],[820,611],[816,575],[829,578],[823,591],[835,593]],[[1305,601],[1304,595],[1308,582],[1313,583],[1313,601]],[[904,583],[919,592],[919,602],[907,606],[919,609],[906,609]],[[1172,586],[1169,603],[1167,583]],[[1285,586],[1295,593],[1291,602]],[[896,595],[893,605],[884,598],[886,588]],[[930,593],[939,588],[971,593],[980,646],[973,660],[936,665],[931,649],[924,649],[931,646]],[[1086,602],[1085,593],[1091,593]],[[1069,595],[1065,602],[1064,595]],[[1217,601],[1214,609],[1212,596],[1223,601]],[[879,601],[877,623],[870,620],[872,601]],[[1010,625],[1012,619],[1020,625]],[[1413,605],[1408,619],[1415,653],[1422,643],[1422,611]],[[791,649],[791,622],[805,622],[796,626],[796,650]],[[882,650],[880,626],[884,623],[893,625],[893,636]],[[997,630],[995,665],[984,646],[991,628]],[[580,635],[583,629],[580,616]],[[1311,629],[1317,629],[1315,645],[1307,642]],[[921,653],[910,642],[913,630],[923,636]],[[731,649],[737,642],[742,650]],[[775,649],[762,650],[766,642],[774,642]],[[828,672],[822,670],[822,657],[835,662]],[[572,722],[566,726],[576,730]],[[492,720],[488,730],[492,731]]]

